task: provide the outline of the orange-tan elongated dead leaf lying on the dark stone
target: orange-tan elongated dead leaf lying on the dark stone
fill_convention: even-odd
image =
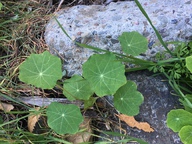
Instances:
[[[136,127],[145,132],[154,132],[154,130],[150,127],[147,122],[137,122],[133,116],[127,116],[124,114],[117,115],[120,120],[124,121],[130,127]]]

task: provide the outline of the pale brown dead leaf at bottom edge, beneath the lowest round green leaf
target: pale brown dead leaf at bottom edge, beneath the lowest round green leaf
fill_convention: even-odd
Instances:
[[[67,140],[73,144],[89,142],[91,139],[91,133],[92,133],[90,123],[91,123],[90,118],[84,118],[83,123],[81,123],[79,126],[80,129],[84,131],[68,136]]]

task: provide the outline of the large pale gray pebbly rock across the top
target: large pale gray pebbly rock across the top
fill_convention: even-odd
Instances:
[[[165,41],[186,41],[186,38],[191,36],[192,4],[188,1],[142,0],[141,4]],[[138,31],[145,35],[149,42],[155,42],[143,58],[149,59],[157,51],[164,50],[133,1],[111,2],[107,6],[77,5],[60,10],[56,13],[56,18],[72,39],[81,43],[121,52],[118,36],[125,31]],[[82,74],[82,64],[95,53],[75,45],[62,32],[55,19],[51,19],[46,26],[45,41],[52,53],[56,54],[56,50],[63,55],[63,67],[68,76]]]

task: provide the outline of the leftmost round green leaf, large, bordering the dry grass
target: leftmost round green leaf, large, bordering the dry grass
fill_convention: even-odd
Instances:
[[[48,51],[31,54],[19,67],[19,79],[43,89],[51,89],[61,79],[61,60]]]

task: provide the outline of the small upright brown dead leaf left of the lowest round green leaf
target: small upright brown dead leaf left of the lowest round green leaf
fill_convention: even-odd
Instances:
[[[39,111],[40,107],[36,107],[35,110]],[[35,124],[38,122],[41,114],[33,114],[30,113],[30,116],[28,117],[28,129],[30,132],[33,132]]]

